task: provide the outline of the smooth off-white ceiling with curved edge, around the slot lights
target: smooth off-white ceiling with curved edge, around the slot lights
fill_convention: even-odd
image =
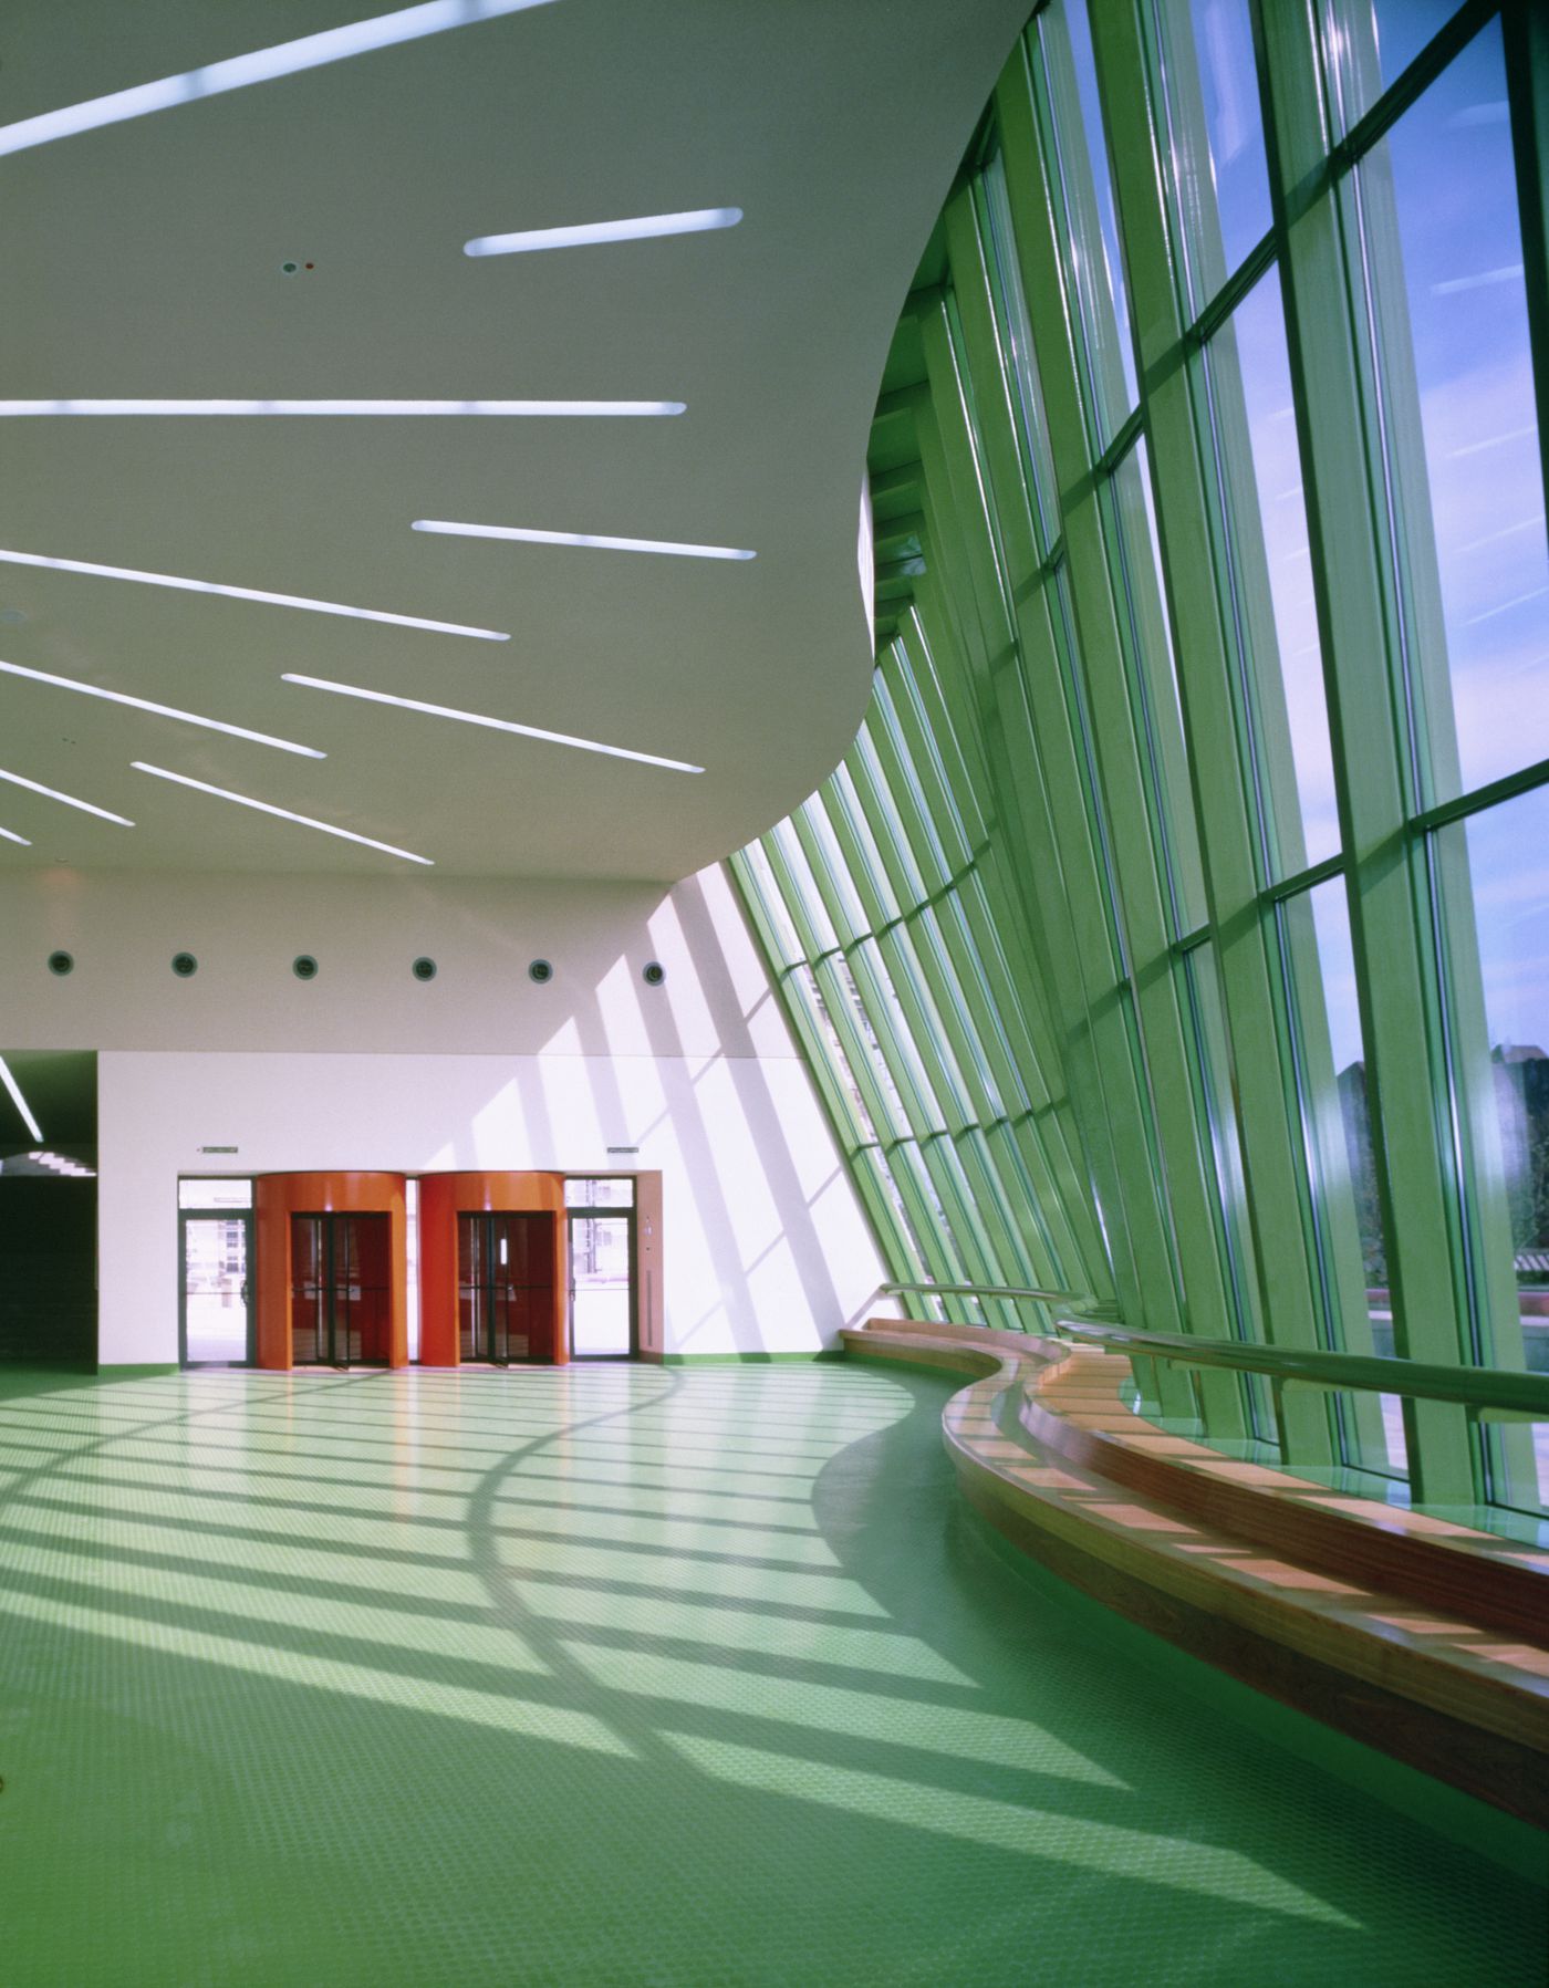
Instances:
[[[1026,0],[557,0],[0,157],[0,398],[682,400],[676,419],[0,419],[0,549],[503,628],[503,644],[0,565],[0,863],[396,871],[131,759],[431,857],[672,881],[861,720],[857,503],[911,272]],[[0,123],[334,28],[362,0],[12,0]],[[378,12],[386,12],[380,8]],[[736,205],[730,231],[467,258]],[[284,276],[286,258],[312,272]],[[430,537],[412,519],[754,547]],[[6,610],[26,616],[8,618]],[[632,765],[284,670],[698,761]],[[420,873],[424,875],[424,873]]]

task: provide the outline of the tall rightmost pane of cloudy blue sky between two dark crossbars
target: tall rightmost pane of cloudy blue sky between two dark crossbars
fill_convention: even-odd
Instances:
[[[1436,797],[1452,799],[1549,753],[1549,543],[1499,24],[1362,171],[1378,187],[1392,171],[1404,250],[1458,722],[1456,763],[1440,738],[1432,775]],[[1402,417],[1402,378],[1394,402]],[[1414,503],[1424,529],[1424,491]],[[1412,668],[1442,668],[1424,626]]]

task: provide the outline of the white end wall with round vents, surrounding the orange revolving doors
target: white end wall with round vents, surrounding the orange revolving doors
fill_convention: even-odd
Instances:
[[[668,1352],[807,1352],[875,1308],[875,1244],[718,869],[666,893],[26,873],[0,932],[0,1050],[99,1052],[107,1364],[177,1358],[179,1173],[660,1169]]]

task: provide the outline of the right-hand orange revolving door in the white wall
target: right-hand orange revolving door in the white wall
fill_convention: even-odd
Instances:
[[[563,1364],[565,1177],[420,1181],[420,1364]]]

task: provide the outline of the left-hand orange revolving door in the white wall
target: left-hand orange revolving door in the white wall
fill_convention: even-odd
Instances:
[[[255,1183],[258,1366],[408,1366],[402,1173]]]

